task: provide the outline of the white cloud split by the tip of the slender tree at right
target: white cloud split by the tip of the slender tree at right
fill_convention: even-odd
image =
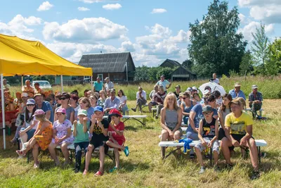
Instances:
[[[237,32],[242,32],[244,39],[247,39],[248,42],[251,42],[253,40],[253,36],[251,33],[256,33],[256,27],[259,28],[261,26],[261,23],[258,22],[251,22],[248,25],[245,25],[244,28],[240,28],[237,30]],[[266,34],[271,35],[274,33],[274,25],[269,24],[265,27]]]

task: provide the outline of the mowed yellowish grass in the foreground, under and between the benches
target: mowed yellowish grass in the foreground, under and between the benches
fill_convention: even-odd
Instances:
[[[134,101],[129,101],[131,108]],[[280,187],[281,186],[281,100],[266,99],[263,104],[266,121],[254,122],[254,137],[265,139],[268,146],[262,147],[266,151],[266,158],[261,160],[261,178],[249,180],[251,163],[249,158],[240,157],[240,150],[235,149],[233,170],[222,170],[219,173],[207,165],[207,171],[198,175],[200,165],[196,159],[190,160],[188,155],[171,155],[165,161],[160,158],[159,134],[161,128],[159,119],[147,114],[147,126],[129,120],[125,125],[126,145],[129,146],[129,157],[121,153],[121,169],[116,173],[108,173],[114,163],[110,158],[105,159],[105,175],[94,177],[99,166],[98,158],[92,158],[90,173],[83,177],[75,174],[72,166],[57,168],[48,154],[40,156],[40,168],[33,169],[33,161],[29,164],[26,159],[18,160],[15,153],[16,146],[7,140],[7,149],[3,150],[3,137],[0,137],[0,187]],[[147,109],[146,109],[147,111]],[[130,111],[130,114],[138,114]],[[144,113],[146,114],[146,113]],[[171,151],[167,149],[167,151]],[[63,158],[60,157],[60,161]],[[205,160],[205,163],[209,161]],[[209,164],[209,163],[208,163]],[[219,165],[225,165],[220,154]]]

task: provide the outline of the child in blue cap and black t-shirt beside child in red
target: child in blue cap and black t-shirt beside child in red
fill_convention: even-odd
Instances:
[[[89,171],[89,164],[91,161],[91,155],[93,150],[99,147],[100,149],[100,168],[95,176],[103,175],[103,165],[105,162],[105,142],[109,139],[107,135],[107,129],[109,123],[107,120],[103,119],[103,107],[96,106],[93,108],[93,115],[91,116],[91,127],[90,134],[93,134],[90,144],[88,146],[88,151],[86,153],[86,163],[83,175],[87,175]]]

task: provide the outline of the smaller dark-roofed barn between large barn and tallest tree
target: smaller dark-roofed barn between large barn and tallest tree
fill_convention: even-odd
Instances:
[[[176,68],[174,72],[171,73],[171,81],[188,81],[188,80],[196,80],[197,75],[195,73],[192,73],[187,68],[183,67],[181,63],[178,63],[178,61],[174,61],[171,59],[166,59],[160,67],[169,67],[169,68]]]

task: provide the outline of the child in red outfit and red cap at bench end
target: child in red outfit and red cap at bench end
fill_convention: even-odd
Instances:
[[[110,173],[112,173],[119,168],[119,150],[124,151],[125,155],[129,156],[129,148],[128,146],[124,146],[126,139],[124,137],[125,125],[120,121],[122,114],[116,108],[113,108],[110,111],[109,116],[111,118],[110,127],[108,128],[110,139],[106,144],[107,146],[114,148],[116,161],[115,167],[110,170]]]

